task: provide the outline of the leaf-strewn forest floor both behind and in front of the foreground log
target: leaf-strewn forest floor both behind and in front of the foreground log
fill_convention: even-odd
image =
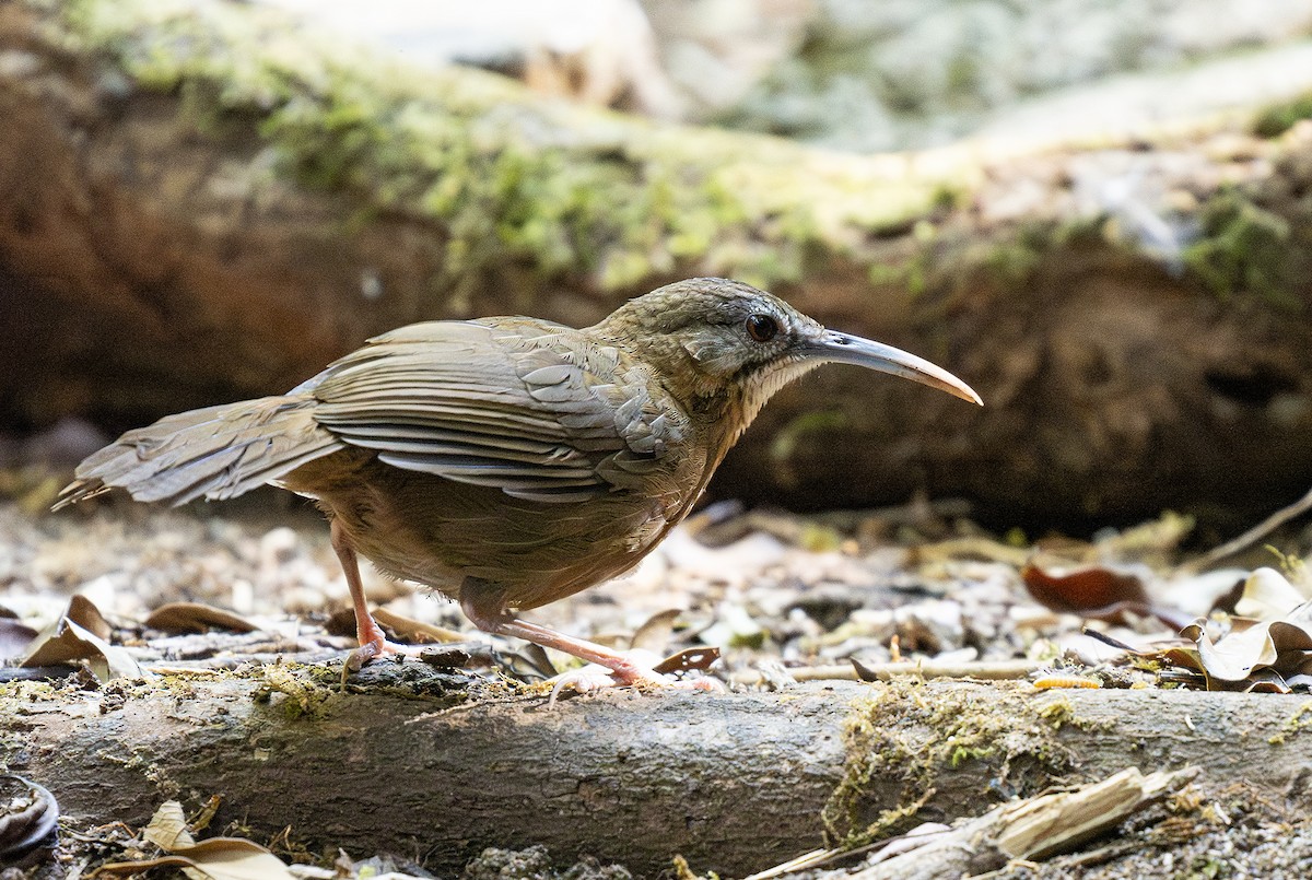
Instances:
[[[306,502],[270,493],[182,510],[112,500],[33,515],[30,506],[0,504],[0,616],[12,615],[9,630],[0,630],[0,654],[21,653],[31,633],[20,627],[54,624],[73,594],[104,616],[108,641],[147,670],[178,664],[237,669],[252,660],[337,662],[353,645],[346,586],[328,530]],[[887,678],[890,669],[905,671],[896,664],[1055,686],[1158,687],[1160,670],[1124,664],[1123,649],[1106,639],[1143,649],[1178,644],[1183,623],[1208,616],[1227,597],[1233,606],[1253,568],[1284,565],[1298,582],[1296,556],[1312,544],[1308,532],[1290,532],[1282,544],[1287,555],[1258,547],[1231,568],[1197,573],[1182,550],[1189,532],[1187,519],[1164,515],[1092,540],[1031,540],[1019,532],[993,535],[974,525],[968,505],[953,501],[819,515],[719,504],[678,529],[628,576],[530,616],[663,656],[718,647],[722,658],[710,674],[729,690],[855,678],[857,668]],[[1071,572],[1082,574],[1069,578]],[[387,620],[398,637],[421,640],[426,632],[467,640],[475,645],[466,648],[467,662],[482,666],[483,675],[534,682],[568,668],[568,658],[479,633],[441,597],[367,567],[365,577],[371,602],[391,612]],[[1138,586],[1126,593],[1126,584]],[[1090,591],[1092,598],[1085,595]],[[1054,610],[1063,603],[1098,606],[1102,620]],[[14,668],[0,671],[9,681],[0,687],[14,687],[22,677]],[[1072,675],[1078,679],[1063,681]],[[1179,673],[1177,679],[1198,683],[1200,677]],[[1295,681],[1294,690],[1307,689]],[[1228,803],[1208,800],[1204,818],[1186,822],[1178,814],[1181,797],[1187,800],[1187,790],[1073,854],[1042,866],[1014,862],[989,876],[1307,876],[1312,825],[1291,821],[1284,807],[1236,792]],[[298,876],[433,876],[386,854],[310,852],[291,838],[258,842],[299,863],[293,866]],[[79,828],[66,820],[52,862],[46,850],[46,859],[29,858],[26,867],[0,876],[85,876],[140,846],[139,828]],[[673,864],[669,871],[680,872]],[[628,872],[621,866],[552,867],[550,854],[525,850],[488,851],[464,876]]]

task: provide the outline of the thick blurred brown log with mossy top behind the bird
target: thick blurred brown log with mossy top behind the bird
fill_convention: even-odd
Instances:
[[[0,7],[0,422],[118,430],[281,392],[407,321],[584,324],[723,274],[987,403],[823,370],[765,410],[726,494],[928,489],[1048,526],[1244,518],[1312,483],[1312,138],[1292,117],[838,155],[408,70],[276,14]]]

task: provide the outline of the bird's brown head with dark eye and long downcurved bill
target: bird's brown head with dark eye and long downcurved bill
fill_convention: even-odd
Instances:
[[[770,395],[821,363],[854,363],[980,403],[970,386],[924,358],[825,329],[778,296],[724,278],[666,285],[594,329],[657,367],[685,403],[736,401],[744,426]]]

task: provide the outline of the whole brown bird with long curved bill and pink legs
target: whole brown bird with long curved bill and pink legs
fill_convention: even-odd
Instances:
[[[352,665],[388,650],[357,555],[461,603],[476,627],[661,682],[635,658],[522,620],[632,568],[785,383],[827,362],[980,403],[928,361],[827,330],[783,300],[694,278],[576,330],[531,317],[411,324],[282,396],[168,416],[77,468],[56,509],[110,487],[174,505],[272,483],[332,523]]]

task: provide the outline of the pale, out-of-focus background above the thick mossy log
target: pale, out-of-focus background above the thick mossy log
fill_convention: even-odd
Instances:
[[[1292,98],[1302,0],[260,0],[417,64],[855,152],[1109,138]]]

